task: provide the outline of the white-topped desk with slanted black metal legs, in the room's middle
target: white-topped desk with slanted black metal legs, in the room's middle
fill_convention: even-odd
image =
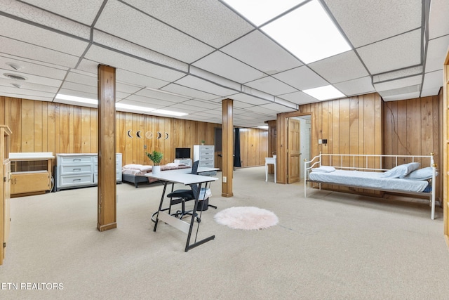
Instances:
[[[211,169],[211,168],[207,168],[207,169]],[[159,209],[156,214],[156,221],[154,222],[153,231],[156,231],[157,224],[158,224],[159,220],[161,220],[161,221],[169,224],[170,226],[173,226],[174,228],[181,230],[183,233],[187,233],[187,242],[185,244],[185,252],[189,251],[189,249],[199,246],[200,244],[204,244],[205,242],[213,240],[215,238],[215,235],[206,237],[205,239],[200,240],[198,242],[196,242],[196,237],[195,237],[195,242],[193,244],[190,244],[190,237],[192,236],[192,229],[194,227],[196,207],[198,206],[198,202],[199,202],[198,198],[199,198],[200,193],[197,193],[196,198],[195,198],[192,219],[190,220],[190,223],[187,223],[186,221],[175,218],[175,216],[171,216],[170,214],[167,214],[165,212],[165,210],[167,210],[167,209],[162,209],[162,204],[163,204],[163,199],[166,194],[167,184],[168,183],[182,183],[184,185],[191,185],[191,186],[194,184],[197,184],[197,185],[199,185],[198,186],[199,191],[201,191],[201,185],[203,183],[206,183],[206,188],[207,188],[208,183],[210,183],[212,181],[216,181],[218,179],[218,178],[210,177],[210,176],[189,174],[189,173],[186,173],[187,171],[189,171],[189,169],[161,171],[159,174],[152,174],[152,173],[145,174],[145,176],[159,179],[159,181],[162,181],[162,183],[163,183],[161,203],[159,204]],[[210,171],[210,170],[205,170],[205,171]],[[198,235],[198,229],[199,229],[199,223],[198,223],[198,227],[196,228],[196,236]]]

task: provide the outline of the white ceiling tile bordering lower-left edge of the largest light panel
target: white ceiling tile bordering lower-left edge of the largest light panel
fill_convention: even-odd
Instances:
[[[241,37],[221,51],[266,74],[276,74],[302,65],[300,60],[259,31]]]

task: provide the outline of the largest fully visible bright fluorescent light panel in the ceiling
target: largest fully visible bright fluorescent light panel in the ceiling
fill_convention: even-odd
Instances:
[[[305,64],[351,50],[318,0],[269,22],[261,30]]]

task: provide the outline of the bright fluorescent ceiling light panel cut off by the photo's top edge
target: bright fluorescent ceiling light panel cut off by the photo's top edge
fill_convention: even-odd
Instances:
[[[305,0],[225,0],[229,6],[232,6],[243,17],[260,26],[264,22],[281,15],[290,8],[301,4]]]

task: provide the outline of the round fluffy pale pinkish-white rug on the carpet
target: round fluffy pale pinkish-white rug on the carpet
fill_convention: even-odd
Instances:
[[[230,207],[217,212],[213,218],[221,225],[243,230],[269,228],[279,222],[272,211],[257,207]]]

